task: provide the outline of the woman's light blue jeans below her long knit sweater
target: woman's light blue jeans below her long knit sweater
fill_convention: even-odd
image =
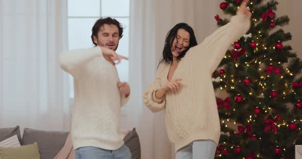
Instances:
[[[176,152],[176,159],[213,159],[217,144],[212,140],[197,140]]]

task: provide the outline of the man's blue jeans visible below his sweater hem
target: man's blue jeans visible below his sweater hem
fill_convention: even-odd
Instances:
[[[98,147],[80,147],[75,150],[76,159],[131,159],[130,149],[124,144],[116,150]]]

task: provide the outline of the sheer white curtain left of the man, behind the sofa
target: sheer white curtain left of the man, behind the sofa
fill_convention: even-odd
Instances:
[[[67,0],[0,1],[0,127],[67,130]],[[65,88],[64,88],[65,87]]]

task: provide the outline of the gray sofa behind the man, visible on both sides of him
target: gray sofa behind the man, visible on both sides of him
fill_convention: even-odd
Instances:
[[[21,138],[20,127],[0,128],[0,142],[17,135],[21,145],[38,143],[41,159],[53,159],[64,146],[68,131],[44,131],[25,128]],[[124,138],[125,145],[130,148],[132,159],[141,158],[139,137],[135,128]]]

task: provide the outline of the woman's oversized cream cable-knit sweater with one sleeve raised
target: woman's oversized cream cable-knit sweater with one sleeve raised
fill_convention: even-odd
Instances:
[[[143,100],[153,112],[165,110],[167,134],[176,151],[195,140],[209,139],[218,144],[220,120],[211,74],[230,44],[249,27],[250,19],[239,13],[201,44],[190,48],[172,77],[172,80],[182,78],[181,90],[167,92],[162,100],[156,99],[155,91],[167,82],[170,65],[159,66],[156,79],[144,92]]]

